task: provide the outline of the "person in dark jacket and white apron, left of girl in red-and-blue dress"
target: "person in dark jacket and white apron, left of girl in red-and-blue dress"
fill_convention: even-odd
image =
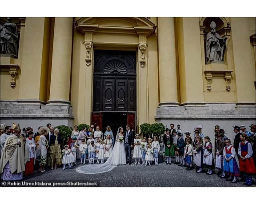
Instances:
[[[216,144],[216,168],[221,170],[221,174],[218,175],[220,178],[225,178],[225,172],[223,171],[223,149],[226,146],[225,142],[222,139],[222,134],[217,133],[217,144]]]

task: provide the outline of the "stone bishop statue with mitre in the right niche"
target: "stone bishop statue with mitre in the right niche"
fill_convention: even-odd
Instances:
[[[210,24],[211,31],[206,36],[206,64],[223,63],[224,48],[227,38],[216,33],[216,23]]]

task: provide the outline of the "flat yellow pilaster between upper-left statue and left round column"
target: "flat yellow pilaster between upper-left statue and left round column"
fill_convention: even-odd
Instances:
[[[50,18],[26,18],[19,103],[40,105],[46,101]]]

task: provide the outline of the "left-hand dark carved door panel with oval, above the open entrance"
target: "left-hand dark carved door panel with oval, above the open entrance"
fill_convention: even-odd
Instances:
[[[115,79],[103,79],[103,111],[114,111]]]

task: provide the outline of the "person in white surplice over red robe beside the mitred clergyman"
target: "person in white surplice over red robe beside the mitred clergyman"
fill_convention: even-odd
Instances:
[[[35,140],[33,139],[34,133],[29,132],[28,137],[27,137],[27,147],[29,149],[29,161],[26,163],[25,167],[25,176],[32,174],[34,171],[34,161],[35,161]]]

